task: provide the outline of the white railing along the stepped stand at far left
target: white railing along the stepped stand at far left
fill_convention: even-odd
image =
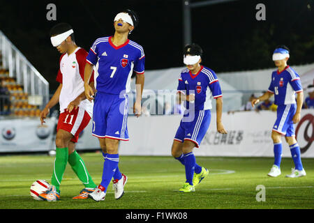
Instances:
[[[24,86],[24,92],[29,95],[43,97],[42,104],[45,105],[49,100],[49,83],[2,31],[0,31],[0,51],[2,67],[9,71],[9,77],[15,77],[17,84]]]

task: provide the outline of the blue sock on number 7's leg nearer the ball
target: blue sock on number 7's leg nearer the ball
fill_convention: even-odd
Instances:
[[[114,172],[118,168],[119,154],[103,153],[105,162],[103,163],[103,177],[100,185],[105,187],[104,192],[107,191],[107,187],[110,184]]]

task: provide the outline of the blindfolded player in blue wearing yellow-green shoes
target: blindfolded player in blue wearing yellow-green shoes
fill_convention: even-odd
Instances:
[[[200,146],[211,122],[211,97],[216,99],[217,131],[226,134],[221,122],[223,100],[215,72],[201,66],[202,49],[195,43],[184,47],[184,63],[177,88],[186,110],[172,144],[172,156],[184,164],[186,182],[180,192],[194,192],[209,170],[196,163],[193,148]]]

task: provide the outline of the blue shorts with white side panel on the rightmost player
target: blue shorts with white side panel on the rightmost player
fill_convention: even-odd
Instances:
[[[295,133],[292,118],[296,111],[296,104],[278,105],[277,119],[273,131],[283,134],[286,137],[294,137]]]

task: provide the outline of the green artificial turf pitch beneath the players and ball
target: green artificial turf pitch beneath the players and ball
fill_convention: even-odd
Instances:
[[[82,153],[96,184],[103,172],[101,153]],[[209,169],[195,192],[177,190],[185,182],[184,166],[172,157],[120,156],[119,169],[128,176],[125,194],[114,199],[110,183],[105,201],[73,200],[83,186],[68,165],[61,182],[61,200],[36,201],[29,188],[33,181],[50,182],[54,157],[47,155],[0,156],[0,208],[54,209],[209,209],[209,208],[314,208],[314,159],[303,159],[307,176],[285,178],[293,161],[283,158],[281,176],[267,176],[273,158],[196,157]],[[257,201],[257,185],[265,187],[265,201]]]

